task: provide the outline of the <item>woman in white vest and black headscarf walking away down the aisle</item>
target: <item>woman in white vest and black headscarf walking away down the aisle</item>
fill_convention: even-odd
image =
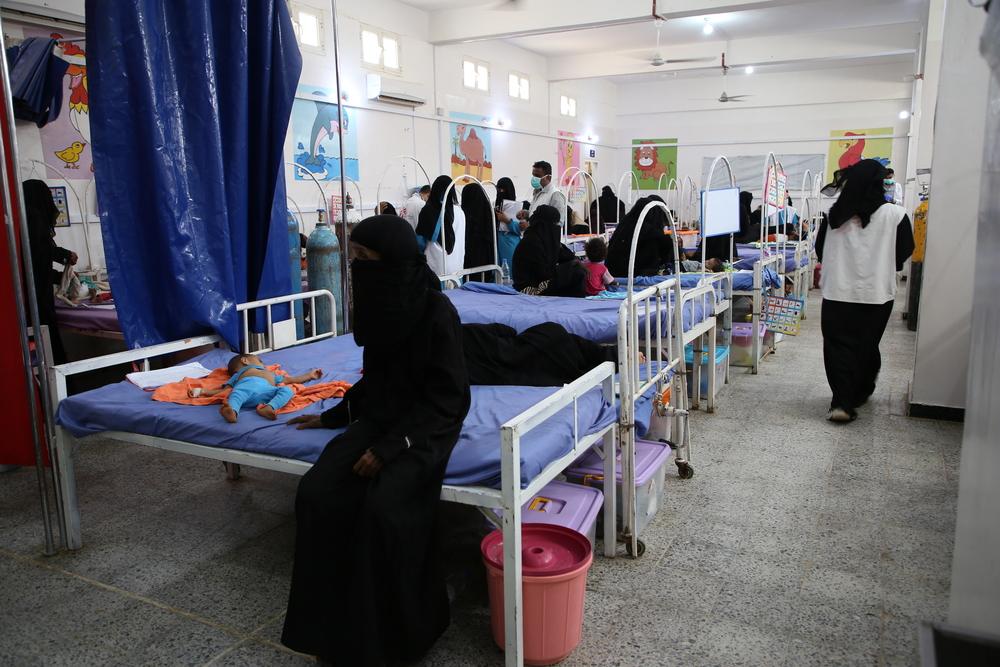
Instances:
[[[824,188],[828,196],[840,192],[816,238],[823,263],[823,363],[833,392],[831,421],[854,421],[858,406],[875,391],[896,272],[913,253],[906,210],[885,200],[885,173],[880,162],[862,160],[838,171]]]

